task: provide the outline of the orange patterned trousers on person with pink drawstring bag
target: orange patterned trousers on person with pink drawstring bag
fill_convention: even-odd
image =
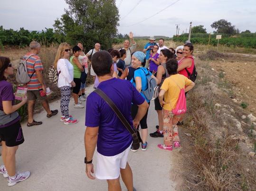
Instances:
[[[171,146],[175,141],[180,142],[177,122],[181,115],[173,115],[171,111],[163,109],[163,143],[166,146]]]

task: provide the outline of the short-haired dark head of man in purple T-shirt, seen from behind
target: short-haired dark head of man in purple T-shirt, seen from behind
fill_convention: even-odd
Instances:
[[[95,52],[92,56],[92,66],[97,76],[112,76],[114,72],[112,56],[107,51]]]

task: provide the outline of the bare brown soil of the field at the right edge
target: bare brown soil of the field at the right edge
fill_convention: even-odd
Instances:
[[[246,111],[256,114],[256,55],[255,54],[229,54],[228,57],[218,61],[211,61],[213,69],[223,72],[231,87],[230,98],[237,99],[237,103],[248,104]]]

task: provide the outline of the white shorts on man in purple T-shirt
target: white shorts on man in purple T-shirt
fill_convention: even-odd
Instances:
[[[117,179],[120,168],[125,169],[131,146],[115,156],[104,156],[97,152],[97,168],[95,176],[100,180]]]

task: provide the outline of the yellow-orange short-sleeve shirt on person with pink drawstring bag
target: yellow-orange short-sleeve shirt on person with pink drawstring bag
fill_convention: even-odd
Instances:
[[[186,87],[192,83],[189,78],[181,74],[171,75],[163,81],[161,89],[164,89],[166,91],[163,97],[164,101],[168,103],[163,105],[163,109],[168,111],[171,111],[175,108],[175,105],[180,95],[180,87],[178,87],[175,82],[180,87]]]

